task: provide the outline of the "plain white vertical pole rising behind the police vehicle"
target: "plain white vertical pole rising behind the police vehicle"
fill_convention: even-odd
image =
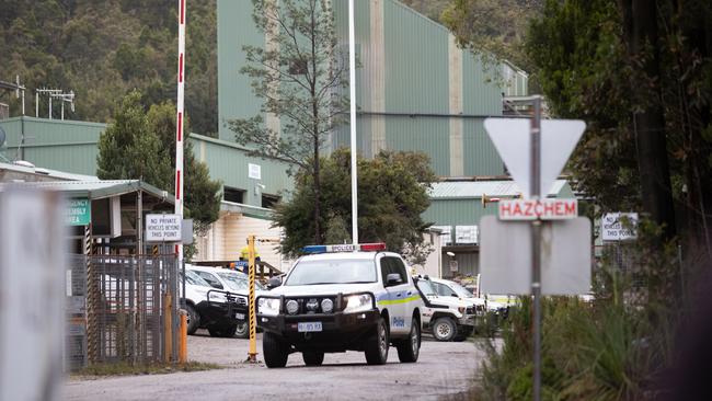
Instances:
[[[358,243],[358,180],[356,149],[356,32],[354,27],[354,0],[348,0],[348,89],[351,103],[351,215],[352,240]]]

